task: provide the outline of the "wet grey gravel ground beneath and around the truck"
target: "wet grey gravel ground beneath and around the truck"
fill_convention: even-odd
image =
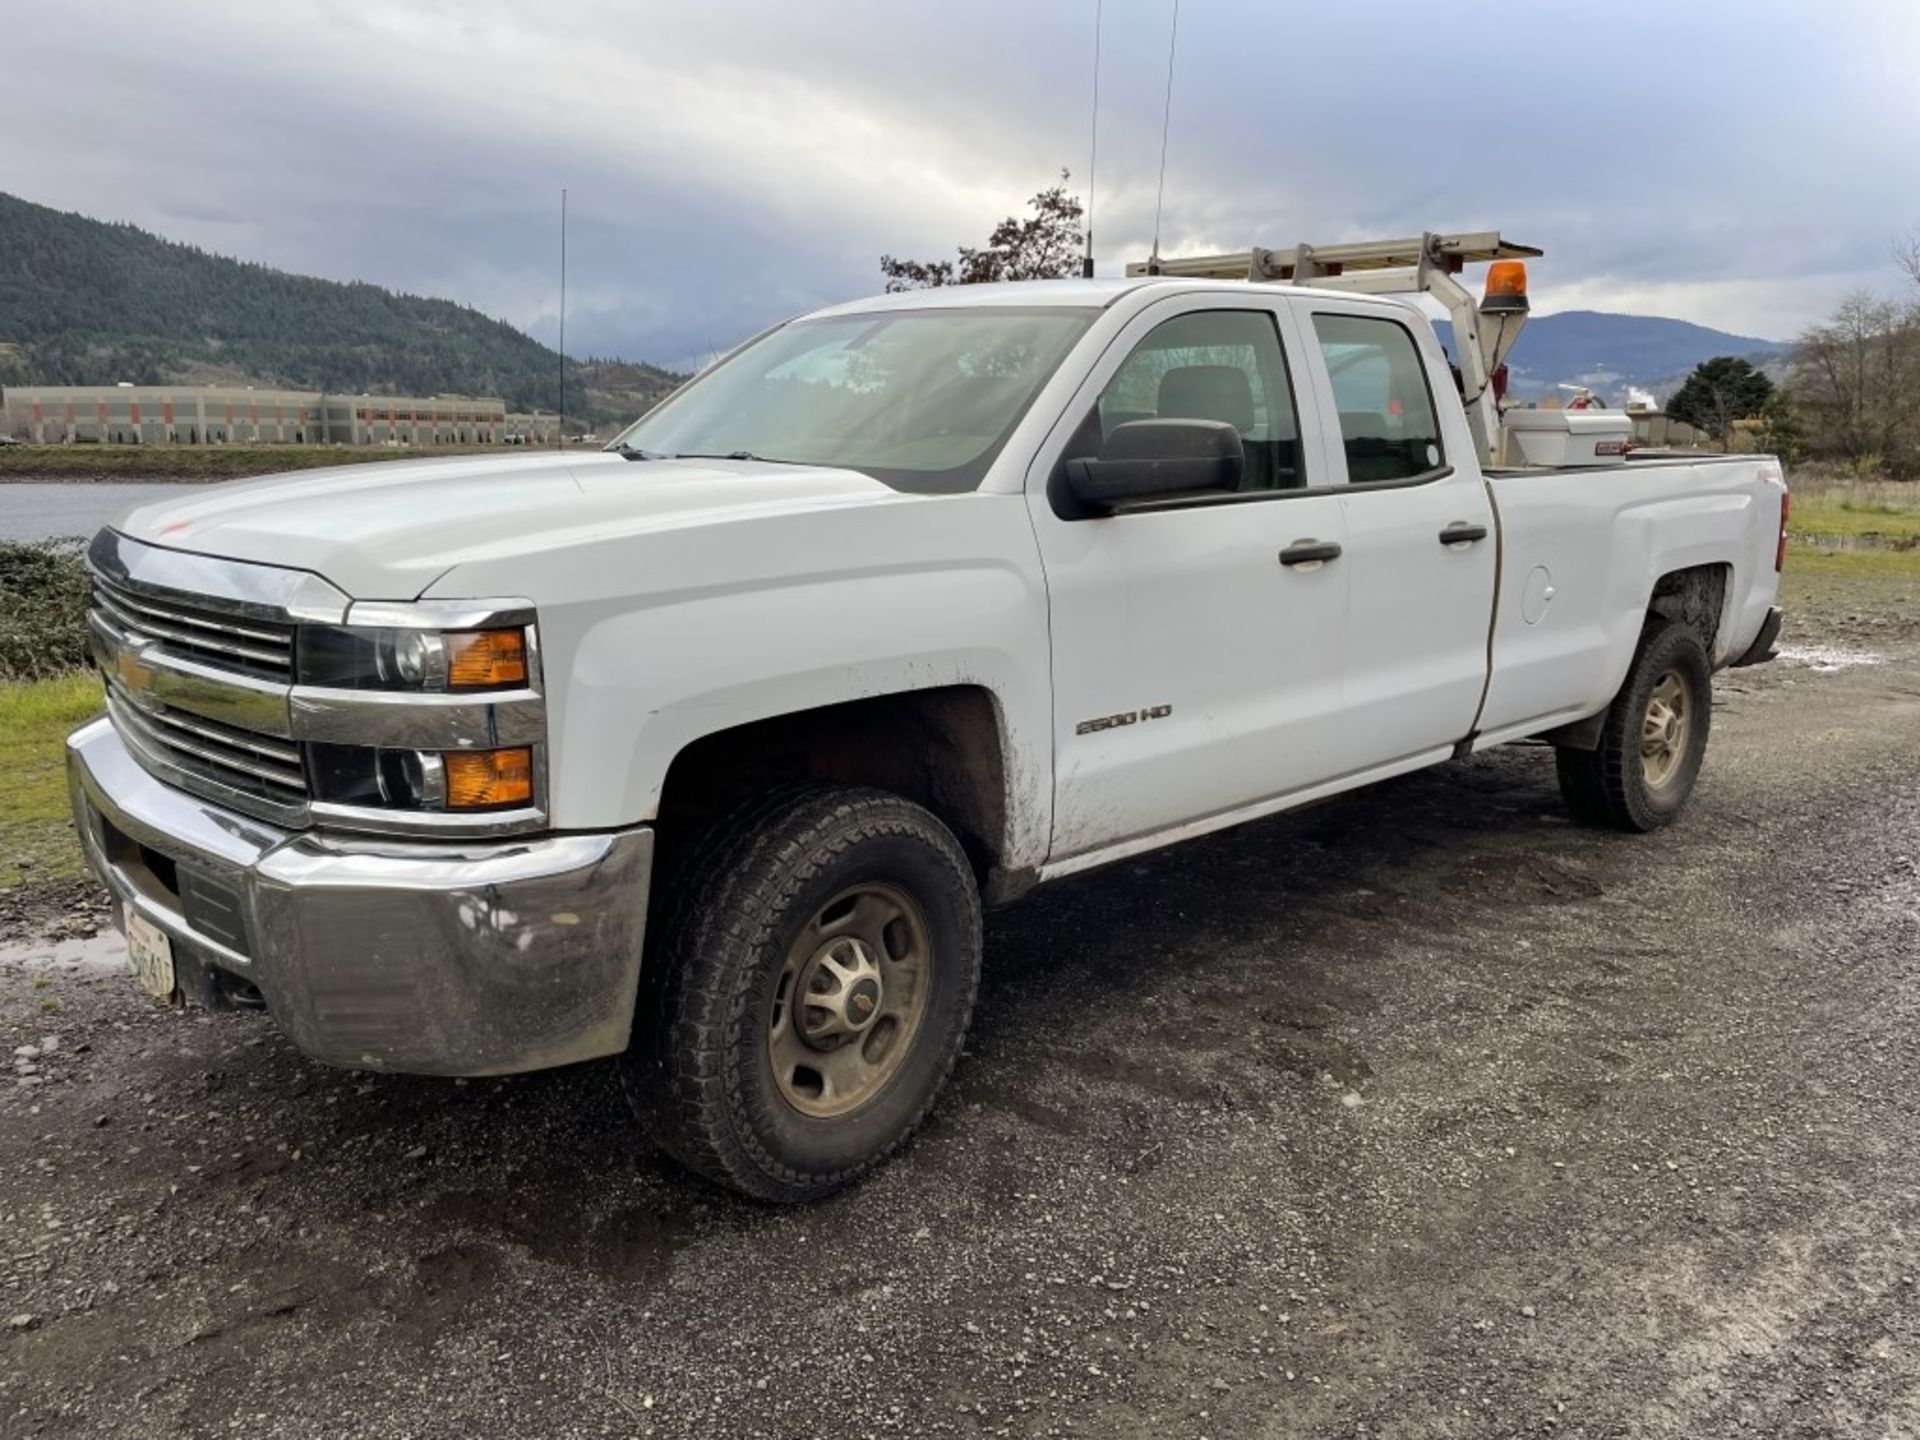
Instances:
[[[15,943],[0,1434],[1916,1434],[1920,624],[1818,645],[1659,835],[1513,749],[998,912],[810,1210]]]

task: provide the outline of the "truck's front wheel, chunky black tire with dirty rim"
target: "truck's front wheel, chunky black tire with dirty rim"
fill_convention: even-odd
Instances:
[[[837,1190],[947,1083],[979,985],[960,843],[897,795],[818,785],[718,826],[643,966],[628,1098],[662,1150],[756,1200]]]

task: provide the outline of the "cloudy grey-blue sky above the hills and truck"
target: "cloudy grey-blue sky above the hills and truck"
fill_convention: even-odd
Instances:
[[[1106,0],[1144,257],[1171,0]],[[1094,0],[0,0],[0,190],[684,363],[1085,180]],[[1920,227],[1920,0],[1185,0],[1162,250],[1498,227],[1538,311],[1789,338]]]

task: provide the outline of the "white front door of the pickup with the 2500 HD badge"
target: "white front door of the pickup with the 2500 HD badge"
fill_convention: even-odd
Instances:
[[[1346,530],[1340,493],[1308,492],[1327,478],[1290,336],[1265,296],[1146,309],[1029,476],[1052,630],[1056,864],[1334,774],[1348,580],[1338,559],[1300,553]],[[1150,417],[1236,426],[1240,493],[1075,518],[1064,459]]]

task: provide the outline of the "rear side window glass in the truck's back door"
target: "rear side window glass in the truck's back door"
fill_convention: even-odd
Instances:
[[[1348,484],[1438,470],[1446,463],[1440,422],[1407,328],[1363,315],[1315,315],[1313,332],[1340,411]]]

